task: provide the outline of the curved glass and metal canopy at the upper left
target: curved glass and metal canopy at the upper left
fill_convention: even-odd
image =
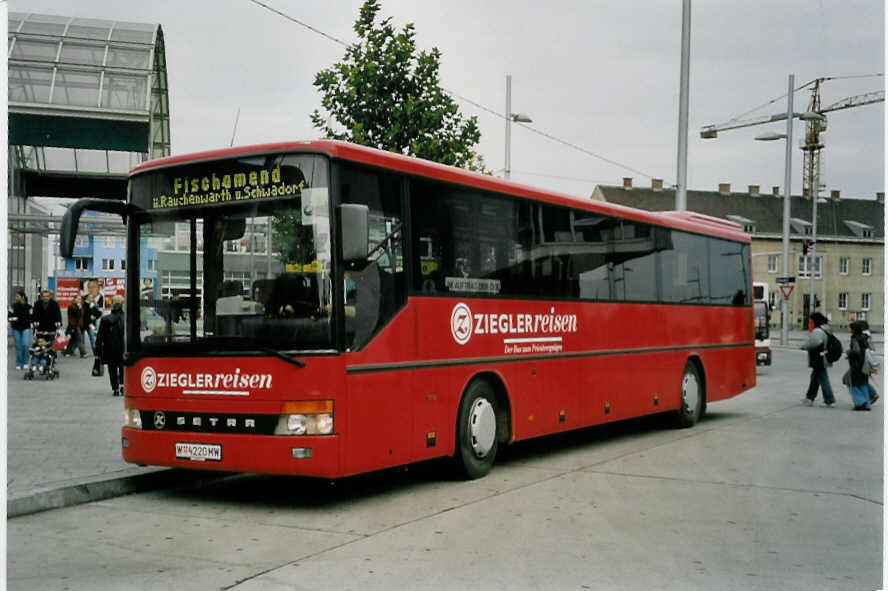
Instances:
[[[8,49],[12,168],[120,175],[170,154],[160,25],[10,12]]]

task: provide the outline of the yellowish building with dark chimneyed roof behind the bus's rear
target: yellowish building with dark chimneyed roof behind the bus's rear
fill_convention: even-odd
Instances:
[[[688,191],[687,209],[729,220],[743,226],[752,237],[752,275],[766,282],[771,299],[771,325],[781,325],[781,285],[788,292],[789,325],[807,328],[812,297],[815,309],[833,328],[846,329],[855,320],[866,320],[873,330],[884,330],[885,316],[885,197],[875,199],[842,197],[832,191],[817,203],[817,232],[814,233],[811,199],[790,199],[790,284],[783,277],[783,198],[775,187],[762,193],[752,185],[743,193],[729,185],[718,191]],[[635,187],[626,178],[623,186],[595,188],[593,199],[650,211],[675,208],[675,191],[664,189],[654,179],[650,187]],[[789,285],[792,290],[789,290]]]

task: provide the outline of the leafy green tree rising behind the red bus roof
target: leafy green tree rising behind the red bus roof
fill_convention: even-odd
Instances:
[[[417,52],[413,24],[398,32],[391,18],[377,22],[379,9],[364,2],[358,41],[315,76],[327,115],[316,109],[312,124],[328,138],[487,172],[477,117],[463,117],[439,85],[441,53]]]

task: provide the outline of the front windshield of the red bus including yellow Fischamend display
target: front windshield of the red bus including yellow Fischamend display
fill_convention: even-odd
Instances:
[[[327,179],[280,154],[135,176],[136,348],[332,348]]]

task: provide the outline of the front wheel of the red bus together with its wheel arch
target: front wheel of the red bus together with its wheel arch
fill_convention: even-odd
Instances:
[[[497,449],[511,436],[510,414],[508,395],[498,376],[472,378],[456,417],[454,459],[461,475],[475,479],[490,472]]]

